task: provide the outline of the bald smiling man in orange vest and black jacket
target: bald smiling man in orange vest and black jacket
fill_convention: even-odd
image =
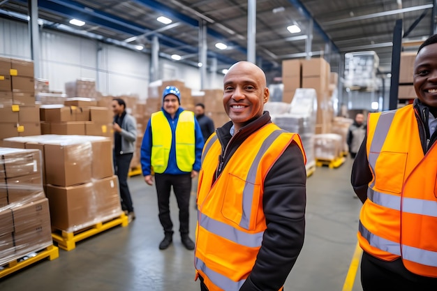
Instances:
[[[223,85],[231,121],[202,154],[196,278],[202,291],[282,290],[304,243],[304,149],[263,110],[269,89],[258,66],[234,64]]]

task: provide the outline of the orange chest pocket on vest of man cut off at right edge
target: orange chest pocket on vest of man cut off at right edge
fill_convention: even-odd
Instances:
[[[396,153],[392,151],[382,151],[380,153],[370,153],[369,161],[376,158],[375,168],[375,188],[379,191],[400,194],[405,176],[407,162],[406,153]]]

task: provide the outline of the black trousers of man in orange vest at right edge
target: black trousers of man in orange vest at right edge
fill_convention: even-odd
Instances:
[[[361,283],[364,291],[431,291],[437,290],[437,278],[427,278],[408,272],[401,260],[388,264],[397,264],[406,276],[386,269],[374,262],[368,253],[363,253],[361,260]]]

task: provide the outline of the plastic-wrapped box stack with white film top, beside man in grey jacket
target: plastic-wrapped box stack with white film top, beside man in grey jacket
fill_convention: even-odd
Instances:
[[[39,147],[52,228],[75,232],[121,215],[112,147],[106,137],[40,135],[10,137],[9,147]]]

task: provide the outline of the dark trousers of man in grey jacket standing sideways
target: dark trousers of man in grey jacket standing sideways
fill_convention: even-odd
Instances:
[[[114,154],[114,170],[119,177],[121,209],[133,211],[131,193],[128,188],[128,172],[133,154]]]

